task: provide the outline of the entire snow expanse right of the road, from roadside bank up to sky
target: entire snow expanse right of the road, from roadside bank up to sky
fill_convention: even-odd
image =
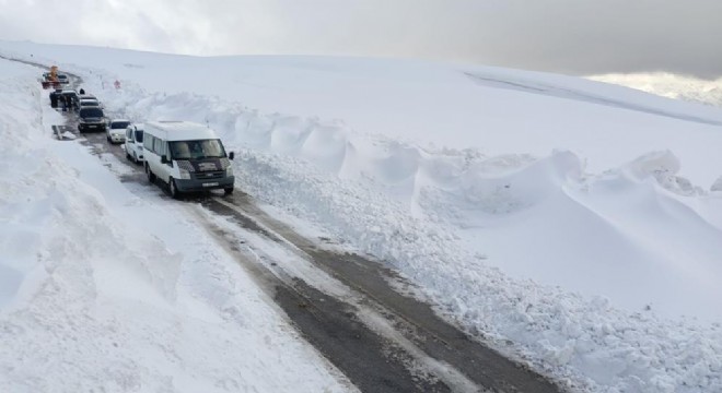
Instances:
[[[3,46],[133,120],[208,122],[244,191],[562,381],[722,391],[719,109],[490,68]]]

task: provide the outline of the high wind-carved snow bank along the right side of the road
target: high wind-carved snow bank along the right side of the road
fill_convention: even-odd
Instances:
[[[236,162],[242,189],[393,263],[433,295],[451,318],[487,338],[511,340],[515,347],[506,350],[521,352],[537,367],[601,391],[722,386],[719,326],[667,321],[655,313],[682,309],[714,315],[719,295],[708,285],[711,281],[697,285],[700,277],[719,272],[712,264],[720,251],[713,240],[719,228],[704,224],[688,206],[698,200],[684,199],[706,198],[707,191],[677,176],[679,164],[669,153],[590,176],[570,152],[546,158],[486,157],[474,150],[429,152],[359,134],[338,121],[265,115],[190,93],[142,95],[127,86],[106,94],[114,109],[136,119],[209,122],[229,146],[243,151]],[[630,205],[627,193],[639,193],[640,199]],[[719,200],[710,202],[719,205]],[[659,209],[637,212],[647,204]],[[619,222],[625,217],[627,222]],[[566,223],[562,228],[560,222]],[[660,252],[660,245],[636,238],[641,234],[673,247],[679,223],[685,223],[679,229],[686,235],[676,241],[683,246],[676,251],[701,252],[704,258],[695,261],[696,267]],[[659,230],[645,235],[657,225],[666,237],[657,237]],[[501,273],[494,265],[504,272],[514,272],[514,266],[497,261],[499,249],[481,242],[475,230],[482,227],[490,237],[504,234],[504,226],[529,229],[506,233],[510,248],[526,251],[520,267],[525,266],[524,276],[542,282],[561,277],[566,288],[574,288],[573,282],[589,284],[591,290],[579,290],[607,296],[590,300]],[[542,251],[558,252],[529,252],[535,243]],[[703,246],[702,251],[697,246]],[[567,271],[569,263],[578,270]],[[532,264],[536,266],[529,269]],[[638,311],[620,311],[620,306]]]

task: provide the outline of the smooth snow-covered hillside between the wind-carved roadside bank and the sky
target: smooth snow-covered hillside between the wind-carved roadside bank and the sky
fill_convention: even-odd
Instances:
[[[7,41],[0,48],[83,70],[98,86],[118,80],[124,87],[193,92],[265,114],[340,119],[357,132],[427,151],[546,156],[568,150],[598,172],[672,150],[684,163],[680,175],[695,183],[709,188],[722,175],[714,169],[722,157],[698,148],[722,144],[714,126],[722,123],[721,110],[577,78],[411,60],[199,58]]]

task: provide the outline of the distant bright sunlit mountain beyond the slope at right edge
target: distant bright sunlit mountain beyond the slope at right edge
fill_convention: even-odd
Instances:
[[[589,79],[637,88],[663,97],[722,107],[722,79],[707,81],[665,72],[604,74]]]

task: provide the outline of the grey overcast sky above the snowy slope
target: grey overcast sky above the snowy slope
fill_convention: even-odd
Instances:
[[[722,76],[722,0],[0,0],[0,39]]]

